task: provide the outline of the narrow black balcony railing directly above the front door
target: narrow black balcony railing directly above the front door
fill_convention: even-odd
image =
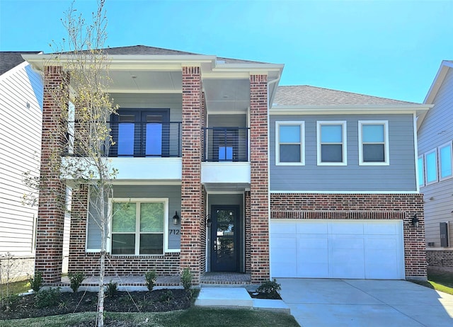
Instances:
[[[248,128],[205,127],[203,135],[203,161],[248,161]]]

